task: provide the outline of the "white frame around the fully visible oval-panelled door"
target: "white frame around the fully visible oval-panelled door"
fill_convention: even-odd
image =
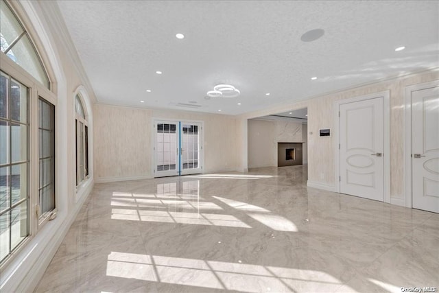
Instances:
[[[384,174],[384,202],[390,203],[390,91],[381,91],[370,95],[339,99],[334,102],[334,165],[335,165],[335,192],[340,194],[340,106],[366,99],[383,98],[383,174]]]

